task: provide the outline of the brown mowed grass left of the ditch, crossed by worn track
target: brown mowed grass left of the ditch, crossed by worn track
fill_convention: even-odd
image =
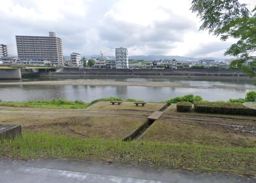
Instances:
[[[144,123],[149,112],[87,111],[0,107],[0,124],[21,124],[22,132],[123,139]]]

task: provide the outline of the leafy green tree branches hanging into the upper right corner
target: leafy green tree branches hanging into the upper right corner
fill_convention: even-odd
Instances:
[[[191,10],[203,22],[199,30],[208,30],[222,41],[237,40],[224,55],[241,57],[232,61],[230,68],[240,68],[252,78],[256,77],[256,57],[252,57],[256,51],[256,6],[252,12],[246,6],[238,0],[193,0]],[[248,60],[251,62],[246,64]]]

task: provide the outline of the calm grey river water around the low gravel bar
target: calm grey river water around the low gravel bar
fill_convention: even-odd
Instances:
[[[244,98],[245,93],[256,90],[252,84],[255,79],[177,79],[177,78],[111,78],[111,77],[86,77],[86,78],[35,78],[22,80],[1,80],[0,82],[28,82],[28,81],[67,81],[67,80],[104,80],[122,82],[181,82],[197,88],[175,87],[144,87],[144,86],[87,86],[87,85],[0,85],[0,99],[3,101],[28,101],[28,100],[83,100],[93,101],[102,97],[134,98],[145,101],[163,101],[186,94],[200,95],[204,100],[227,101],[230,98]],[[221,87],[218,87],[221,86]],[[210,88],[209,88],[210,87]],[[230,88],[229,88],[230,87]],[[236,89],[238,87],[239,89]]]

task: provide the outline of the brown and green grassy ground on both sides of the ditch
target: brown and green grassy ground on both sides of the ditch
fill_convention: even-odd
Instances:
[[[168,168],[245,168],[255,174],[255,135],[243,131],[244,126],[255,128],[253,117],[173,115],[167,108],[148,126],[145,139],[122,141],[160,108],[148,102],[144,107],[98,102],[87,109],[0,106],[1,124],[22,126],[22,138],[0,143],[0,157],[112,159]]]

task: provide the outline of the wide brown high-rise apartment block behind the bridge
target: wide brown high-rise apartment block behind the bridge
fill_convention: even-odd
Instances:
[[[54,32],[49,32],[49,37],[16,36],[16,44],[19,58],[43,57],[52,64],[64,64],[62,41]]]

